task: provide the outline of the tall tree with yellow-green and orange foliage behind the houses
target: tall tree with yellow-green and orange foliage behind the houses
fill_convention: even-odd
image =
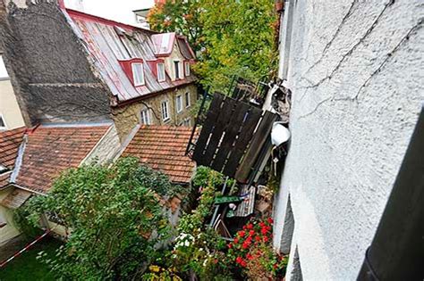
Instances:
[[[184,2],[168,0],[158,5],[150,12],[149,22],[160,32],[189,35],[191,45],[199,51],[195,70],[201,84],[224,91],[233,75],[252,81],[274,75],[277,17],[273,1]],[[191,14],[190,21],[186,14]],[[195,37],[191,37],[191,29],[196,30]]]

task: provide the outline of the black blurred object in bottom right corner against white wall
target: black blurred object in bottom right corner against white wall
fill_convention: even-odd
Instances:
[[[424,107],[358,280],[424,278]]]

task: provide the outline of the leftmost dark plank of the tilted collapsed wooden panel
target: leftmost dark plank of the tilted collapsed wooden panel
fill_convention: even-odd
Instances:
[[[201,128],[200,136],[193,153],[193,160],[196,161],[198,165],[208,166],[209,164],[208,162],[204,161],[203,154],[208,143],[210,133],[212,132],[216,123],[216,119],[218,118],[219,112],[221,111],[221,103],[223,100],[224,95],[216,93],[214,94],[214,98],[210,103],[206,120],[203,124],[203,127]]]

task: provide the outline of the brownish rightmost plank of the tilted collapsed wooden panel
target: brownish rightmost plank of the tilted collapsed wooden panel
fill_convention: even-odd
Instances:
[[[240,164],[237,172],[235,173],[235,179],[241,183],[246,183],[249,178],[250,171],[258,159],[259,153],[262,150],[263,145],[267,141],[267,137],[271,133],[271,128],[277,119],[277,115],[271,112],[265,112],[264,117],[260,121],[259,127],[255,132],[247,152],[244,154],[242,163]]]

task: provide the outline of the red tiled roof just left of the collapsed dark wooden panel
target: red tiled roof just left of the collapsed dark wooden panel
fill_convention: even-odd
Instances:
[[[158,169],[174,183],[189,183],[194,161],[184,155],[191,128],[142,126],[123,151],[122,156],[135,156],[140,163]]]

